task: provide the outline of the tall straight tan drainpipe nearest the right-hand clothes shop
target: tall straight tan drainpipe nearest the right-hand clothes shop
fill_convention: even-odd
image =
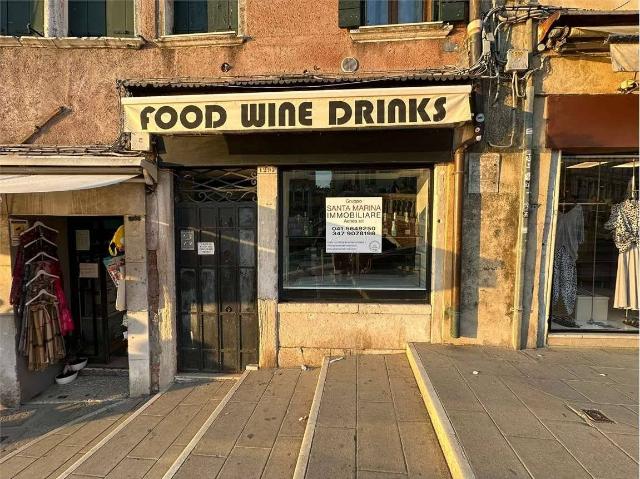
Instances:
[[[533,51],[533,21],[526,23],[526,43],[527,51]],[[525,293],[525,268],[527,257],[527,243],[529,239],[529,206],[531,192],[531,157],[533,149],[533,103],[535,86],[533,74],[527,77],[526,97],[523,105],[523,141],[522,141],[522,183],[520,185],[520,220],[518,224],[518,247],[516,254],[516,277],[514,281],[514,301],[512,320],[512,346],[514,349],[522,349],[522,318],[524,316],[524,293]]]

